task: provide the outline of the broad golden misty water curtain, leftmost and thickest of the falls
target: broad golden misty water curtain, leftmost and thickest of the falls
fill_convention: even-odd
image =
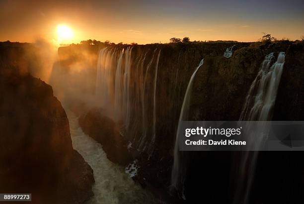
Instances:
[[[131,52],[132,47],[99,51],[95,91],[100,106],[113,119],[124,119],[126,127],[130,123]]]

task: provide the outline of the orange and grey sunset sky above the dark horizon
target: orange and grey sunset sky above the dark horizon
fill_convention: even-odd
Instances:
[[[260,1],[260,2],[259,2]],[[304,35],[301,0],[1,0],[0,41],[57,41],[59,24],[70,26],[81,40],[140,44],[190,40],[256,41],[262,32],[291,40]]]

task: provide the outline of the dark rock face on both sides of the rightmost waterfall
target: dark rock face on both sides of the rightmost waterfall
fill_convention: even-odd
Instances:
[[[303,43],[278,44],[269,49],[242,48],[229,59],[206,58],[194,83],[191,120],[238,120],[249,87],[263,57],[286,52],[273,120],[303,120]],[[190,152],[185,195],[195,201],[204,192],[206,203],[235,202],[239,152]],[[302,203],[302,152],[259,152],[250,203]],[[198,176],[200,175],[200,176]],[[198,184],[204,183],[200,188]],[[291,188],[292,187],[292,188]],[[221,195],[219,197],[218,195]]]

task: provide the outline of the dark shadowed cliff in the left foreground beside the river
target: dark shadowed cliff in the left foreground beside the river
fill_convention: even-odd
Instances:
[[[72,147],[65,110],[51,86],[26,72],[21,48],[0,51],[0,192],[31,193],[37,204],[84,203],[93,171]]]

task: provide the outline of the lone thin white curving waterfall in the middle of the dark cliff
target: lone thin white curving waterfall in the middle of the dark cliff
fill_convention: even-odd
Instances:
[[[177,132],[176,132],[176,138],[175,138],[175,146],[174,146],[174,162],[173,162],[173,167],[172,167],[172,173],[171,173],[171,186],[174,187],[178,192],[182,193],[182,197],[185,200],[185,196],[183,194],[183,184],[184,184],[184,171],[183,171],[183,165],[182,163],[182,157],[183,157],[183,152],[179,151],[179,128],[180,128],[180,121],[182,120],[187,120],[188,119],[188,114],[189,114],[189,106],[190,106],[190,97],[191,97],[191,90],[193,86],[193,80],[195,78],[195,74],[198,71],[198,69],[203,65],[204,59],[201,60],[199,66],[195,69],[193,72],[189,84],[186,89],[185,97],[183,100],[183,104],[180,110],[180,115],[179,115],[179,122],[178,122],[178,127],[177,127]]]

